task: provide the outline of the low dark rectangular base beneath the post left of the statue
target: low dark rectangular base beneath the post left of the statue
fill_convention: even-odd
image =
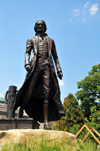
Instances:
[[[39,129],[39,123],[32,118],[0,119],[0,130],[9,129]]]

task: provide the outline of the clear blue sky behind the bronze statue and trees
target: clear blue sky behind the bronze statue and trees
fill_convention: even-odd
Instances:
[[[19,89],[25,79],[26,40],[34,24],[45,20],[63,71],[61,100],[75,94],[77,82],[100,63],[99,0],[0,0],[0,92]]]

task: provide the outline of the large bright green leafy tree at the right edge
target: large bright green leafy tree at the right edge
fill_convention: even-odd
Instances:
[[[84,116],[90,119],[91,108],[100,108],[100,64],[94,65],[88,76],[77,82],[77,87],[80,90],[75,95],[81,101]]]

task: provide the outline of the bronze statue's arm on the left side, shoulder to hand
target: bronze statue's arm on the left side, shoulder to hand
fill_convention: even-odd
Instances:
[[[31,50],[32,50],[32,40],[31,38],[28,38],[26,42],[26,52],[25,52],[25,68],[27,71],[30,71],[31,69],[31,63],[30,63]]]

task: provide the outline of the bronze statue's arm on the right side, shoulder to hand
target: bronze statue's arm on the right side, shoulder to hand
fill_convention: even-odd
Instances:
[[[59,59],[58,59],[58,55],[57,55],[57,51],[56,51],[56,46],[55,46],[54,40],[52,40],[51,52],[52,52],[52,56],[53,56],[53,59],[54,59],[55,65],[56,65],[58,77],[60,79],[62,79],[63,73],[62,73],[62,69],[60,67],[60,63],[59,63]]]

